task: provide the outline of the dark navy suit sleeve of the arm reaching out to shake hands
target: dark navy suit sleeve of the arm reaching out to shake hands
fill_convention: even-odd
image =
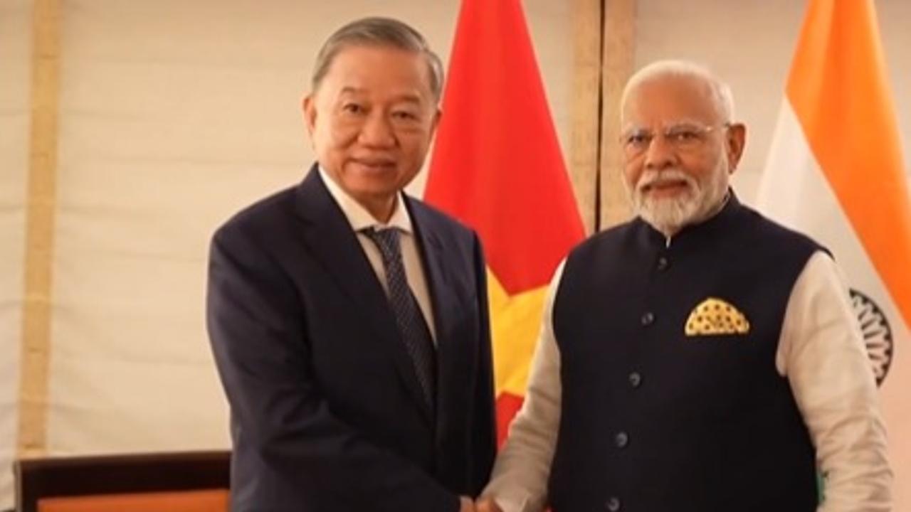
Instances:
[[[235,440],[253,446],[243,456],[258,464],[262,496],[348,504],[340,510],[458,510],[431,476],[333,415],[308,372],[301,299],[261,246],[239,229],[216,234],[207,323]]]

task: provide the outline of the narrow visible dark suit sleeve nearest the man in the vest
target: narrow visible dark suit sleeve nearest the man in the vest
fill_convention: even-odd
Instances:
[[[487,304],[487,278],[484,252],[475,236],[475,275],[479,326],[478,361],[475,383],[475,421],[472,439],[472,494],[481,494],[496,456],[496,405],[494,403],[494,370],[490,339],[490,308]]]

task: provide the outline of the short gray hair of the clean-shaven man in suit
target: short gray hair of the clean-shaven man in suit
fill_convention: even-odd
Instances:
[[[312,90],[320,87],[322,78],[329,72],[335,56],[348,46],[391,46],[415,52],[425,57],[430,70],[430,90],[439,101],[443,93],[443,63],[421,33],[407,24],[386,17],[365,17],[336,30],[322,44],[316,56],[311,81]]]

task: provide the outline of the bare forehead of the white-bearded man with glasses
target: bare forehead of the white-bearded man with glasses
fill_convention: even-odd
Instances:
[[[655,77],[630,92],[623,108],[626,125],[653,126],[679,121],[719,121],[711,85],[697,77]]]

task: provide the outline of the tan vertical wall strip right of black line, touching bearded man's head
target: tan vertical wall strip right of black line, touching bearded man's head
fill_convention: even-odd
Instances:
[[[636,0],[606,0],[604,12],[603,117],[601,118],[600,227],[630,218],[621,176],[619,102],[633,71],[636,52]]]

